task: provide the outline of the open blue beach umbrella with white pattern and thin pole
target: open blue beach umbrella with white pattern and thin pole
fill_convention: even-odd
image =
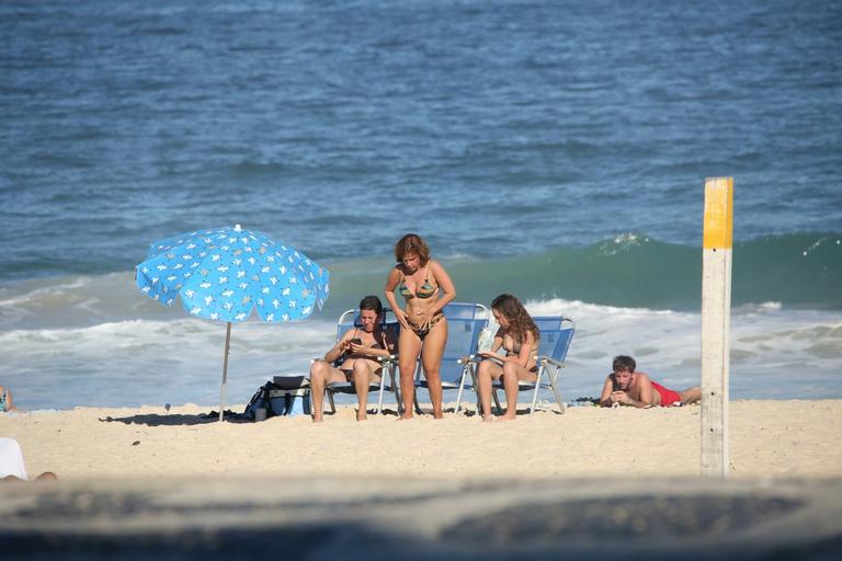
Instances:
[[[227,322],[219,421],[231,322],[246,321],[255,309],[270,323],[304,319],[328,299],[328,278],[304,253],[240,225],[156,241],[135,267],[137,287],[149,298],[170,306],[180,297],[189,313]]]

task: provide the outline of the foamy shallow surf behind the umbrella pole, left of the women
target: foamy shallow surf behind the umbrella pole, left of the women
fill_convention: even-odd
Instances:
[[[272,375],[300,373],[325,353],[335,324],[249,322],[231,329],[230,402]],[[21,407],[139,405],[218,400],[225,324],[192,318],[0,332],[0,379]]]

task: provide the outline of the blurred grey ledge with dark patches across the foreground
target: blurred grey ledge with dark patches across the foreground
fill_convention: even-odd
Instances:
[[[0,488],[8,559],[842,558],[842,480],[173,479]]]

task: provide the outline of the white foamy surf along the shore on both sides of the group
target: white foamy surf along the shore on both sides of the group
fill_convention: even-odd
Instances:
[[[667,386],[681,389],[699,382],[698,313],[562,299],[526,306],[535,316],[565,314],[576,320],[564,373],[566,399],[596,394],[617,354],[632,354],[641,370]],[[166,313],[166,319],[82,327],[5,329],[4,322],[0,380],[15,390],[15,401],[27,409],[218,403],[225,324],[175,311]],[[327,314],[288,324],[234,324],[227,401],[247,401],[274,374],[307,371],[310,359],[321,356],[334,336],[334,320]],[[774,302],[735,309],[733,398],[842,397],[840,364],[838,314],[787,310]]]

